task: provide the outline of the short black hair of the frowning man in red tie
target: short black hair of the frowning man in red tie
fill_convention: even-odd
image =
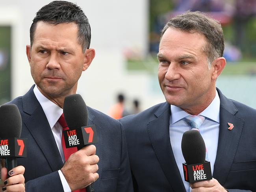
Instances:
[[[53,1],[37,11],[30,27],[30,45],[34,40],[37,22],[43,21],[49,24],[60,24],[74,22],[78,26],[78,43],[82,46],[83,52],[89,48],[91,43],[91,27],[88,18],[81,7],[67,1]]]

